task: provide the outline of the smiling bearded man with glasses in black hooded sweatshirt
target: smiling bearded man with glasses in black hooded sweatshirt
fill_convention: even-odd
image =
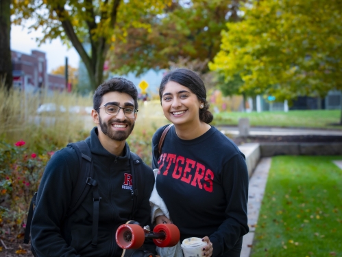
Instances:
[[[80,171],[80,161],[73,147],[56,152],[38,189],[32,219],[32,249],[35,256],[121,256],[115,241],[119,225],[134,219],[151,225],[149,197],[154,187],[154,173],[141,161],[143,188],[138,188],[136,203],[132,187],[132,153],[125,142],[134,129],[138,113],[138,91],[124,78],[112,78],[100,85],[93,97],[91,113],[97,126],[85,142],[93,164],[93,179],[99,190],[99,219],[96,244],[93,243],[93,193],[86,195],[79,208],[67,215]],[[136,173],[136,172],[135,172]],[[140,176],[141,177],[141,176]],[[139,178],[140,178],[139,177]],[[155,245],[145,243],[155,253]]]

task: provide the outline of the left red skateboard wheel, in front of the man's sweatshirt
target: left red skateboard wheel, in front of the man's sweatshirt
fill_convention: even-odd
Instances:
[[[115,240],[122,249],[138,249],[145,241],[145,232],[140,225],[123,224],[118,227]]]

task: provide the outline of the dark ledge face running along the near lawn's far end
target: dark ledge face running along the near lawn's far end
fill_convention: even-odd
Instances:
[[[342,155],[342,143],[260,143],[260,155]]]

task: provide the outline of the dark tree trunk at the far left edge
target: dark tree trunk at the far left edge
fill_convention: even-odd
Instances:
[[[11,0],[0,1],[0,85],[7,89],[12,87],[12,58],[10,47]]]

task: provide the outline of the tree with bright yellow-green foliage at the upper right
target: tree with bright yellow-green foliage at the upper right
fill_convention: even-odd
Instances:
[[[252,1],[227,23],[210,69],[277,100],[342,89],[342,1]],[[342,116],[341,116],[342,122]]]

